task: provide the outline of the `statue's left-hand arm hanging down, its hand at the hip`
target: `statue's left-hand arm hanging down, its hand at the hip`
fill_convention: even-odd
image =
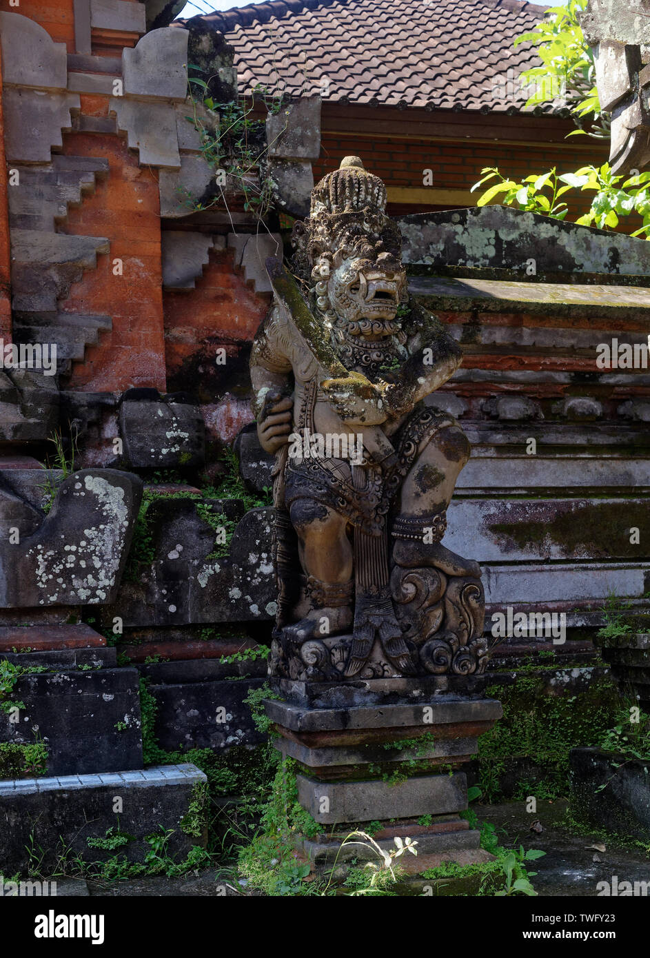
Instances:
[[[253,340],[250,354],[251,404],[260,444],[269,453],[289,442],[292,422],[291,362],[280,322],[277,312],[271,309]]]

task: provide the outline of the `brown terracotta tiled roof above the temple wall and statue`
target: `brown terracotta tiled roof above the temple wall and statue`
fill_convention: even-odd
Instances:
[[[268,0],[194,22],[226,34],[243,91],[259,83],[348,103],[512,111],[526,97],[508,88],[508,71],[539,63],[513,41],[545,10],[523,0]]]

